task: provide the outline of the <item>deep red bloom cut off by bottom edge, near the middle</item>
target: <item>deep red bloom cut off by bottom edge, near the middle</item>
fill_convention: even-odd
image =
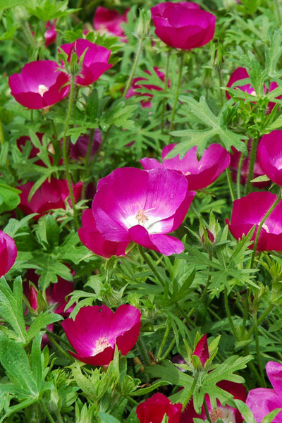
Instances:
[[[137,405],[136,414],[140,423],[161,423],[167,415],[168,423],[179,423],[182,404],[171,403],[162,393],[155,393]]]

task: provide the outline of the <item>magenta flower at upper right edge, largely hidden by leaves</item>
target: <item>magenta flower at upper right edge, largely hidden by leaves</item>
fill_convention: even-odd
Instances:
[[[235,90],[241,90],[243,92],[245,92],[246,94],[250,94],[253,95],[254,97],[257,95],[254,87],[252,87],[252,85],[250,83],[241,83],[240,80],[245,80],[249,78],[249,74],[247,73],[247,69],[246,68],[237,68],[235,69],[235,71],[231,74],[231,77],[228,80],[227,83],[227,87],[228,88],[233,88]],[[269,84],[269,92],[275,90],[278,87],[277,83],[272,81]],[[267,89],[266,86],[264,85],[264,94],[266,94]],[[228,91],[226,91],[226,97],[228,99],[231,99],[231,95],[228,93]],[[278,99],[281,99],[282,96],[277,97]],[[268,106],[267,106],[267,113],[270,113],[271,110],[274,108],[276,103],[274,102],[269,102]]]

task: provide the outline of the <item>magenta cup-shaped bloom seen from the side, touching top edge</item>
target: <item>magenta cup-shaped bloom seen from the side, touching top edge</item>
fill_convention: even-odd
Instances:
[[[155,34],[170,47],[191,50],[214,37],[216,17],[190,1],[166,1],[151,8]]]

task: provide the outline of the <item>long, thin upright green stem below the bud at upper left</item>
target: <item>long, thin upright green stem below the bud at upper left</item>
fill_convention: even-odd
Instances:
[[[75,228],[78,229],[78,214],[76,212],[76,207],[75,207],[75,197],[73,195],[73,186],[71,183],[71,173],[68,167],[68,149],[67,149],[67,137],[66,137],[66,133],[68,132],[68,124],[70,123],[70,119],[71,119],[71,111],[73,108],[73,92],[74,92],[74,85],[75,85],[75,75],[71,75],[71,90],[70,90],[70,97],[68,99],[68,111],[66,114],[66,123],[65,123],[65,129],[63,131],[63,162],[65,164],[65,168],[66,168],[66,178],[68,180],[68,189],[70,191],[70,196],[71,196],[71,204],[73,207],[73,217],[75,219]]]

